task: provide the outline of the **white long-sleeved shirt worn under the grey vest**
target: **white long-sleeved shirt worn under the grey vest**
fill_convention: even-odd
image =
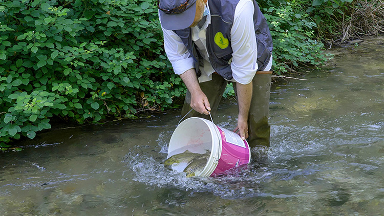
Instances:
[[[207,8],[209,10],[208,2]],[[248,84],[258,70],[257,44],[253,26],[253,1],[240,0],[234,11],[233,25],[231,29],[232,61],[230,67],[233,79],[241,84]],[[209,63],[209,55],[206,50],[206,28],[210,24],[208,14],[205,23],[201,28],[198,26],[191,29],[191,37],[197,49],[203,57],[203,67],[200,67],[201,76],[199,82],[211,80],[215,70]],[[162,28],[164,34],[164,49],[176,74],[183,74],[185,71],[194,68],[194,59],[189,55],[187,48],[181,38],[172,30]],[[266,70],[272,66],[272,57],[269,60]]]

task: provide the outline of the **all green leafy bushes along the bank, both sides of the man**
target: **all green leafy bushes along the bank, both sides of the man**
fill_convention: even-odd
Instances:
[[[273,37],[274,73],[323,64],[324,37],[369,3],[350,2],[259,2]],[[185,91],[163,50],[157,1],[0,2],[1,150],[33,139],[54,118],[133,118],[178,106]],[[229,84],[224,97],[233,94]]]

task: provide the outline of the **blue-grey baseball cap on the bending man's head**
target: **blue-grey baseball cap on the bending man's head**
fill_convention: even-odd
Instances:
[[[164,29],[185,29],[195,20],[196,0],[158,0],[157,7]]]

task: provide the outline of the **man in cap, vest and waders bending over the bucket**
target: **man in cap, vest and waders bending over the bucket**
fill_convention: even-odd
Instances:
[[[254,0],[158,0],[164,49],[187,87],[182,115],[215,115],[228,81],[239,104],[237,132],[269,146],[272,38]]]

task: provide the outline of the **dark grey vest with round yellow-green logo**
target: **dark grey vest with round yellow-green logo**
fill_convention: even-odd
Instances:
[[[233,24],[234,10],[238,3],[239,0],[208,0],[211,23],[206,29],[206,46],[209,61],[214,70],[227,80],[232,79],[230,61],[233,51],[230,31]],[[253,5],[253,23],[258,48],[258,71],[263,71],[272,55],[272,37],[267,21],[255,0],[253,0]],[[183,41],[189,55],[194,58],[196,73],[200,76],[199,64],[202,65],[202,62],[199,63],[199,57],[202,58],[192,41],[191,29],[174,30],[174,32]]]

